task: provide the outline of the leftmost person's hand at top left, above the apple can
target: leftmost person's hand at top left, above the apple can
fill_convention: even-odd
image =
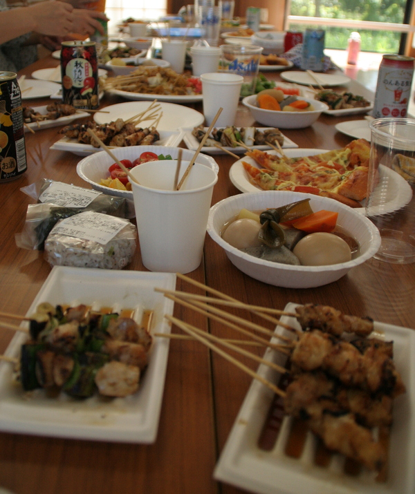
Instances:
[[[35,21],[36,32],[47,36],[62,36],[73,31],[73,6],[62,1],[42,1],[27,7],[27,15]]]

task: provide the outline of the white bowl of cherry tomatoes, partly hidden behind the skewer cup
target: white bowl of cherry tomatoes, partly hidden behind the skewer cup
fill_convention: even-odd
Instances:
[[[130,160],[131,162],[139,158],[142,153],[147,152],[155,153],[156,155],[170,155],[173,159],[176,159],[178,150],[179,148],[172,146],[128,146],[111,149],[113,155],[115,155],[118,160]],[[192,160],[194,151],[190,151],[189,149],[182,149],[182,151],[183,160]],[[77,164],[76,171],[77,174],[80,175],[80,178],[85,180],[85,182],[88,182],[93,189],[110,194],[111,196],[133,200],[133,193],[131,191],[112,189],[100,184],[102,179],[109,178],[110,173],[108,169],[113,162],[114,160],[107,154],[107,151],[100,151],[86,156],[86,158],[81,160]],[[196,163],[205,164],[207,167],[212,168],[215,173],[219,172],[219,166],[211,156],[199,153],[196,158]]]

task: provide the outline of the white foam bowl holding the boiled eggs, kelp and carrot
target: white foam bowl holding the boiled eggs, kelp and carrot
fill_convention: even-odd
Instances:
[[[232,221],[241,209],[265,211],[305,198],[310,198],[309,204],[314,212],[324,209],[338,213],[337,225],[358,243],[358,251],[353,254],[351,260],[330,265],[283,264],[257,258],[232,247],[222,236],[224,226]],[[379,231],[365,216],[333,199],[291,191],[252,192],[221,200],[210,209],[208,233],[225,250],[231,263],[243,273],[264,283],[287,288],[320,287],[337,281],[347,274],[349,269],[373,257],[380,247]],[[325,249],[327,244],[322,242],[322,249]]]

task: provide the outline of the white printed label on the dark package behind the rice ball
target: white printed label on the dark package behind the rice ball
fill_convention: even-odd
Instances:
[[[40,202],[64,207],[87,207],[101,192],[83,189],[75,185],[53,182],[39,196]]]

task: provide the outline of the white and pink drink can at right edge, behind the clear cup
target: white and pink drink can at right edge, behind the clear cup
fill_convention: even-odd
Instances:
[[[372,112],[375,118],[406,117],[414,77],[414,60],[404,55],[383,55]]]

